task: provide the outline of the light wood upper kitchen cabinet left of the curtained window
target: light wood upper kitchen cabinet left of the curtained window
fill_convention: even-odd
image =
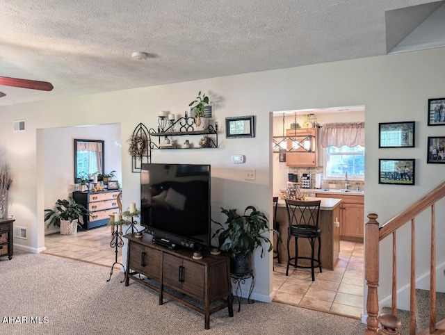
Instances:
[[[318,148],[317,148],[317,128],[298,128],[286,129],[286,136],[295,138],[295,140],[287,140],[287,149],[293,152],[286,153],[287,166],[317,166],[318,165]],[[307,152],[305,142],[312,143],[312,151]]]

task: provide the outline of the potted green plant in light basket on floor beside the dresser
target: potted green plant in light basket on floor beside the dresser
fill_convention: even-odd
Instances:
[[[77,204],[72,197],[68,200],[58,199],[56,209],[44,210],[44,222],[48,222],[47,228],[54,224],[54,227],[60,227],[60,234],[76,234],[77,226],[82,227],[83,215],[91,215],[91,212],[81,204]]]

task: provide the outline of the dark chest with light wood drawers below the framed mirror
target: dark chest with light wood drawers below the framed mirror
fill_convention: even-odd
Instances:
[[[108,224],[110,215],[119,213],[119,193],[119,190],[95,193],[73,192],[74,201],[92,212],[92,215],[83,216],[82,227],[92,229]]]

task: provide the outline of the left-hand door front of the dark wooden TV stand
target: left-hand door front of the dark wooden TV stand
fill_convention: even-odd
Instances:
[[[129,268],[149,278],[161,280],[162,252],[130,241]]]

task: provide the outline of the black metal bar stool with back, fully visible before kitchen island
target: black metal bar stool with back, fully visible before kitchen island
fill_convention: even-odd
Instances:
[[[286,276],[289,273],[289,265],[295,268],[310,268],[312,272],[312,281],[315,280],[314,269],[320,268],[321,272],[321,229],[318,228],[318,217],[320,215],[320,200],[316,201],[298,201],[285,199],[288,218],[287,234],[287,267]],[[295,257],[291,258],[289,243],[291,238],[295,238]],[[311,245],[311,256],[298,256],[298,238],[307,238]],[[318,240],[318,257],[314,258],[315,243]],[[310,265],[298,265],[298,260],[310,260]],[[293,263],[291,261],[294,261]]]

